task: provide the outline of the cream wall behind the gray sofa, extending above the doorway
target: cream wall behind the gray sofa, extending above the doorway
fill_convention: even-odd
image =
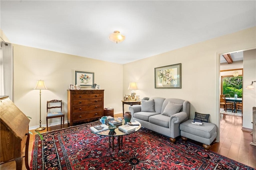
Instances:
[[[138,82],[140,97],[179,98],[190,101],[190,118],[195,111],[211,115],[219,127],[219,55],[256,47],[255,27],[124,65],[123,95],[130,81]],[[184,40],[186,41],[186,40]],[[149,49],[150,50],[150,49]],[[155,89],[154,68],[181,63],[181,89]],[[254,99],[255,100],[255,99]],[[218,136],[219,138],[219,136]]]

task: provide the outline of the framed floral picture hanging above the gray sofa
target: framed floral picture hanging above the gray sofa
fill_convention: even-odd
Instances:
[[[181,63],[155,68],[155,89],[181,89]]]

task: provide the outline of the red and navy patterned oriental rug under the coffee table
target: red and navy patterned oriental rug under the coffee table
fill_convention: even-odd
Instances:
[[[112,151],[108,137],[90,132],[98,121],[35,135],[32,170],[253,170],[201,146],[141,128],[123,137],[123,146]],[[115,140],[116,144],[117,141]]]

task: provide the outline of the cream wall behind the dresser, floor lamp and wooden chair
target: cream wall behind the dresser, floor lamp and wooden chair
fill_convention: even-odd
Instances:
[[[123,65],[14,44],[14,103],[32,117],[30,129],[39,125],[39,90],[34,87],[40,79],[48,88],[42,90],[42,125],[46,125],[47,100],[62,99],[67,120],[67,89],[74,84],[74,70],[94,72],[94,83],[105,90],[104,107],[122,113]],[[58,118],[49,121],[60,123]]]

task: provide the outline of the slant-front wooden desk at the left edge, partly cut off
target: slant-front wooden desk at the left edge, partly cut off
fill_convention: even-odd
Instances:
[[[25,149],[25,165],[28,165],[28,124],[30,120],[8,96],[0,96],[0,161],[8,162],[14,159],[16,170],[22,170],[22,149]]]

